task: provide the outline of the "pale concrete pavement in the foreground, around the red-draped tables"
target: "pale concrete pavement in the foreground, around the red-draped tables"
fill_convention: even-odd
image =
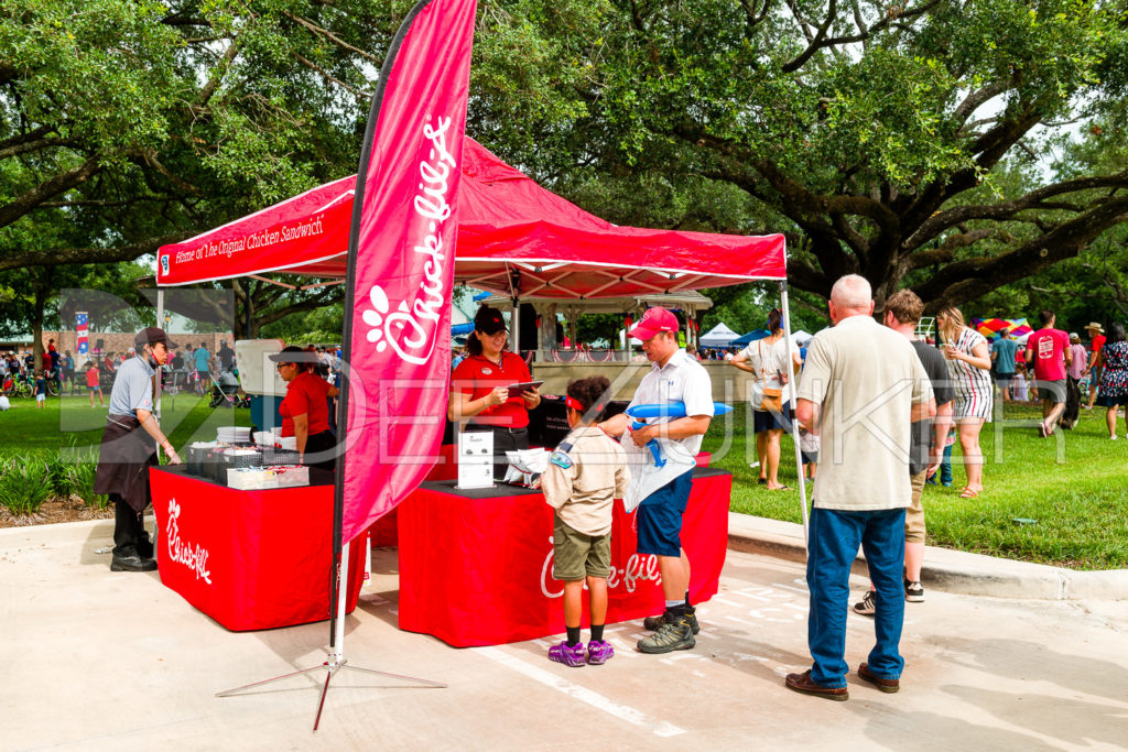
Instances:
[[[928,589],[906,605],[901,692],[852,673],[851,700],[828,702],[783,687],[809,665],[802,566],[735,550],[698,610],[694,651],[634,653],[641,625],[618,625],[615,658],[582,669],[550,663],[550,640],[456,649],[399,631],[395,554],[377,551],[347,657],[450,687],[340,674],[312,735],[320,673],[214,693],[320,663],[327,622],[229,632],[156,574],[111,573],[96,552],[111,533],[111,522],[0,530],[0,749],[1101,750],[1128,738],[1128,603]],[[856,667],[872,621],[848,623]]]

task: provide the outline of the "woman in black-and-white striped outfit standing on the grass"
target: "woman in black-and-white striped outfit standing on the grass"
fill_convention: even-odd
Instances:
[[[968,476],[968,485],[960,496],[975,498],[984,489],[979,431],[990,421],[993,408],[990,347],[981,334],[963,325],[963,313],[958,308],[942,310],[936,315],[936,324],[944,338],[948,373],[955,390],[952,418],[960,433],[963,469]]]

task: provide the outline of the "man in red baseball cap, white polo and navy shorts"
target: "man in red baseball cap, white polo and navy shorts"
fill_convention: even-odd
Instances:
[[[686,417],[652,418],[631,432],[631,441],[641,453],[628,452],[632,483],[628,496],[638,504],[638,554],[658,557],[662,574],[666,611],[647,617],[643,622],[653,635],[638,640],[643,653],[669,653],[694,647],[694,635],[700,631],[694,607],[689,604],[689,559],[681,547],[681,515],[689,502],[694,467],[702,437],[713,418],[713,383],[708,372],[696,359],[678,345],[678,317],[664,308],[651,308],[629,334],[642,339],[643,352],[651,362],[629,407],[685,402]],[[613,436],[623,435],[629,425],[620,414],[601,424]],[[647,442],[656,440],[663,467],[656,467]],[[645,458],[645,459],[641,459]]]

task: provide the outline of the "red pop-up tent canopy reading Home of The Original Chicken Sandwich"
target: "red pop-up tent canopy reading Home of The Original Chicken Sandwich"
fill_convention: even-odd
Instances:
[[[618,227],[467,139],[456,281],[512,298],[619,298],[786,278],[784,238]],[[157,284],[271,272],[343,278],[353,176],[164,246]],[[407,249],[405,249],[407,250]]]

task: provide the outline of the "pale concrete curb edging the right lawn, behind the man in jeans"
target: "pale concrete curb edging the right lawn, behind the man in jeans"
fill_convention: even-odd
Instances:
[[[803,525],[729,513],[729,548],[790,561],[805,561]],[[858,552],[853,573],[866,576]],[[920,581],[926,587],[962,595],[1041,601],[1128,601],[1128,569],[1075,572],[927,546]]]

